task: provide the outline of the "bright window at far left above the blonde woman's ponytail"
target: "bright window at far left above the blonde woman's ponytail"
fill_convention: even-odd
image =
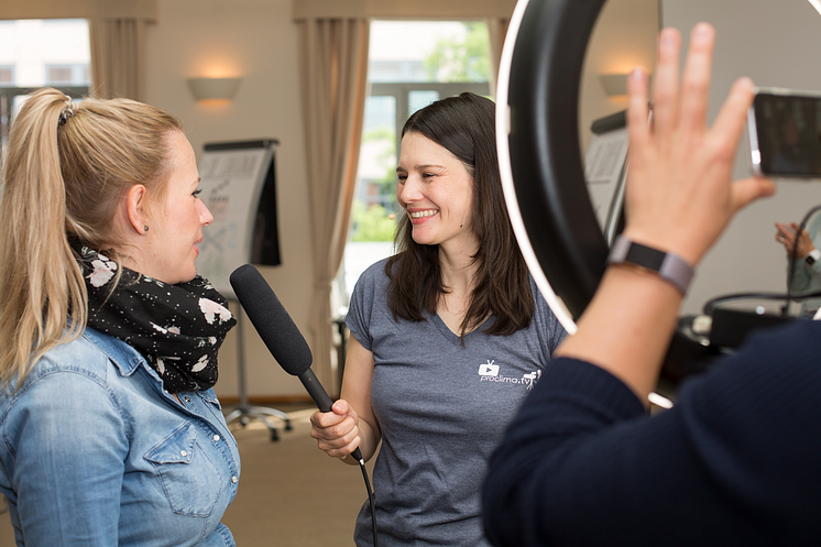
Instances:
[[[88,95],[91,50],[85,19],[19,20],[0,24],[0,142],[25,95],[52,86]]]

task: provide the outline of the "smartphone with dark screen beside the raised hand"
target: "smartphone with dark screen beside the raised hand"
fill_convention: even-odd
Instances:
[[[756,89],[747,131],[757,175],[821,178],[821,92]]]

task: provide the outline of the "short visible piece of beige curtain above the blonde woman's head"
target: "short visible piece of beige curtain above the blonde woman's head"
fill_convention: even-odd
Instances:
[[[92,95],[143,100],[146,24],[146,20],[138,18],[88,21]]]

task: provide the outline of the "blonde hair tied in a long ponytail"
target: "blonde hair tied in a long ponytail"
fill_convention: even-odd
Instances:
[[[97,250],[118,245],[118,204],[135,184],[154,203],[162,198],[168,135],[180,127],[128,99],[72,105],[51,88],[28,97],[0,182],[0,385],[15,372],[22,381],[50,348],[83,331],[86,286],[69,240]]]

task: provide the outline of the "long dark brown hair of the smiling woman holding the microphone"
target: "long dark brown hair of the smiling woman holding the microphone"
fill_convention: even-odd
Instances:
[[[495,321],[485,332],[512,335],[527,327],[535,303],[527,265],[513,233],[504,204],[495,142],[495,106],[490,99],[464,92],[416,111],[402,129],[416,132],[457,156],[473,178],[473,231],[479,249],[470,306],[460,326],[463,336],[490,314]],[[436,314],[448,293],[439,264],[438,245],[418,244],[407,215],[396,232],[397,253],[385,264],[387,303],[394,318],[425,320]]]

